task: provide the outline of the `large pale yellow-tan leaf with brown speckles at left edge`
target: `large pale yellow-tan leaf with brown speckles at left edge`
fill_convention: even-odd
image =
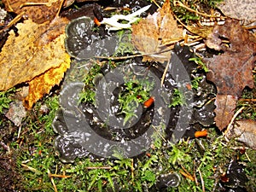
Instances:
[[[0,55],[0,90],[28,82],[67,61],[64,45],[67,22],[67,19],[56,18],[51,23],[38,25],[25,20],[16,26],[18,37],[10,32]]]

